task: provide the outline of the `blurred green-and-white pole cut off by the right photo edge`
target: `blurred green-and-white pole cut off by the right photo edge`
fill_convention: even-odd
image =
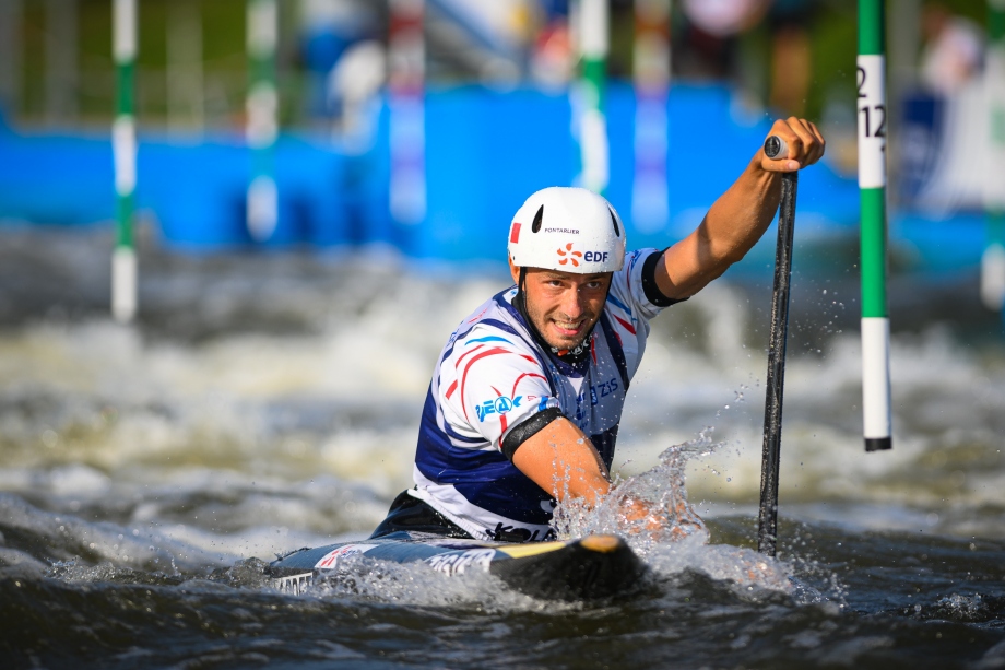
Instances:
[[[989,116],[989,164],[984,169],[988,246],[981,257],[981,302],[989,309],[1005,312],[1005,0],[988,0],[984,95]]]

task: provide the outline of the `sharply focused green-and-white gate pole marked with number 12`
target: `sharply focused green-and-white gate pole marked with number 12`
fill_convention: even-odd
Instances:
[[[862,415],[865,450],[892,447],[886,301],[884,0],[859,0],[859,191],[862,201]]]

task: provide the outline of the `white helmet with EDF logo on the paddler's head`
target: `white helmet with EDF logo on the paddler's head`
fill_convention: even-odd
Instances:
[[[520,268],[617,272],[625,265],[625,226],[603,196],[553,186],[517,211],[509,226],[509,256]]]

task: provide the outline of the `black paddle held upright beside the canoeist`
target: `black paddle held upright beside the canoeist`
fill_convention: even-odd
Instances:
[[[765,155],[787,158],[784,140],[769,136]],[[778,542],[778,460],[782,440],[782,391],[785,384],[785,337],[789,332],[789,283],[792,279],[792,232],[795,227],[795,187],[799,173],[782,175],[778,205],[778,246],[775,250],[775,293],[771,296],[771,338],[768,348],[768,388],[765,395],[765,444],[760,468],[760,518],[757,551],[775,556]]]

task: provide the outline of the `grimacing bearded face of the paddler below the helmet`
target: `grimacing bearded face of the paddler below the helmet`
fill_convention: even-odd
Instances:
[[[520,268],[509,263],[513,281]],[[544,341],[558,349],[574,349],[596,324],[607,298],[610,272],[575,274],[560,270],[528,268],[527,315]]]

